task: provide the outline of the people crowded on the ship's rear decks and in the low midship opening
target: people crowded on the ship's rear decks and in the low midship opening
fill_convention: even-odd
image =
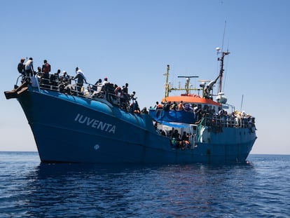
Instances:
[[[249,128],[249,131],[253,132],[255,128],[254,117],[247,114],[245,111],[233,111],[228,113],[221,107],[209,106],[207,104],[190,104],[184,102],[156,102],[151,110],[155,110],[156,114],[162,114],[161,111],[187,111],[193,113],[195,116],[195,130],[197,125],[202,122],[202,125],[206,125],[209,131],[214,133],[223,132],[224,127],[229,128]],[[159,111],[159,113],[157,113]],[[217,112],[216,112],[217,111]],[[156,115],[157,116],[157,115]],[[160,135],[170,137],[172,147],[176,149],[186,149],[191,147],[191,133],[184,132],[181,135],[181,130],[172,128],[172,130],[163,130],[161,127],[158,129],[158,121],[156,121],[155,128]],[[179,133],[180,132],[180,133]],[[193,142],[194,143],[194,142]]]

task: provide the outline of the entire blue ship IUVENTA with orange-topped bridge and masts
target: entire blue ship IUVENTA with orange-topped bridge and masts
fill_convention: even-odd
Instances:
[[[229,53],[218,53],[219,75],[198,88],[190,84],[197,76],[179,76],[184,88],[172,87],[167,65],[165,95],[148,110],[111,83],[96,95],[95,85],[78,87],[71,78],[67,85],[62,76],[20,75],[4,93],[20,103],[41,163],[245,163],[257,138],[255,118],[227,104],[221,86]]]

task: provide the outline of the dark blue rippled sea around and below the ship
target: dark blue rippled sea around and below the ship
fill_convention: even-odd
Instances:
[[[290,217],[290,156],[237,165],[40,163],[0,152],[0,217]]]

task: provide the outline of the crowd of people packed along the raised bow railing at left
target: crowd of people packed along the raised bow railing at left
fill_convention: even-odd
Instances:
[[[67,71],[57,69],[55,74],[50,74],[51,66],[47,60],[43,60],[42,67],[37,67],[34,71],[33,58],[25,62],[25,58],[20,59],[18,64],[18,72],[22,75],[22,83],[29,81],[32,86],[47,88],[50,90],[58,90],[61,93],[69,95],[81,95],[90,98],[105,98],[114,105],[118,105],[121,109],[130,111],[131,113],[147,113],[147,110],[140,111],[137,102],[136,93],[128,93],[128,83],[125,83],[122,88],[116,84],[110,83],[107,77],[98,79],[93,85],[87,82],[85,74],[79,67],[76,67],[76,75],[69,76]],[[36,81],[37,79],[37,81]],[[75,81],[75,83],[72,83]],[[86,87],[85,87],[86,86]]]

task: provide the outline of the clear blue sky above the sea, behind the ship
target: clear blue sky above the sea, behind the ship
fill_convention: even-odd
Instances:
[[[91,83],[127,82],[150,107],[164,95],[167,64],[175,84],[215,79],[226,21],[223,92],[236,109],[244,95],[242,109],[256,117],[251,153],[290,154],[289,9],[288,0],[1,1],[0,151],[36,151],[20,104],[3,93],[20,57],[33,57],[34,68],[47,59],[53,73],[81,67]]]

